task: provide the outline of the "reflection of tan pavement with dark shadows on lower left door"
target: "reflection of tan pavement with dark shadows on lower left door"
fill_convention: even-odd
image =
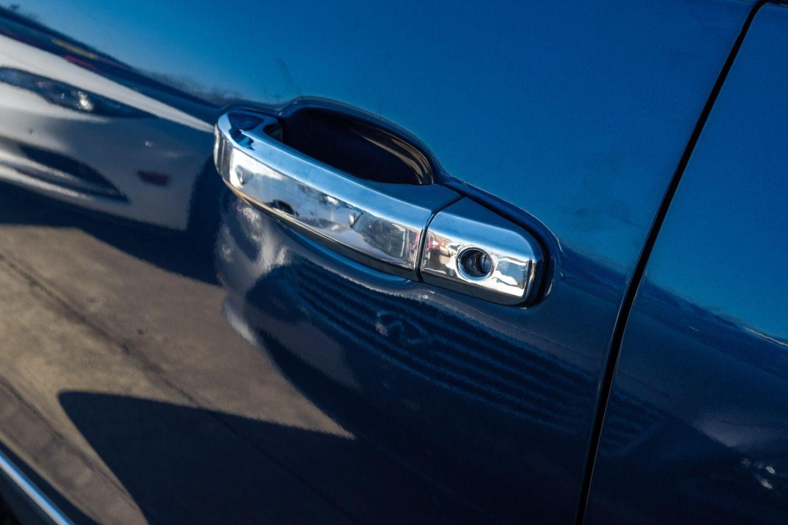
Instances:
[[[199,478],[207,472],[221,482],[259,487],[266,494],[257,497],[276,521],[407,514],[396,500],[418,482],[408,477],[411,488],[405,489],[401,476],[407,474],[355,441],[232,331],[221,317],[225,294],[212,283],[210,268],[210,256],[186,241],[102,224],[0,187],[2,441],[70,504],[102,523],[207,519],[214,502],[227,504],[199,494],[206,490]],[[121,412],[102,416],[110,405]],[[153,405],[174,409],[147,409]],[[132,450],[155,449],[157,432],[182,433],[180,423],[161,416],[182,407],[199,414],[195,434],[179,438],[188,440],[184,449],[209,456],[191,471],[178,471],[177,462],[117,467],[123,440],[100,442],[107,433],[100,422],[123,420],[130,406],[143,407],[128,409],[130,434],[139,431],[133,443],[139,447]],[[263,425],[286,431],[263,432]],[[310,438],[292,438],[299,431]],[[107,452],[108,446],[116,449]],[[217,471],[211,454],[229,458],[221,462],[226,472],[221,464]],[[243,479],[232,458],[251,469]],[[157,468],[158,477],[140,479]],[[370,483],[370,475],[381,471],[392,481]],[[173,489],[173,479],[185,476],[190,482]],[[395,484],[403,487],[388,486]],[[418,493],[429,500],[429,490]],[[359,505],[364,498],[370,500],[366,508]],[[423,512],[431,503],[411,503],[422,512],[417,519],[429,519]]]

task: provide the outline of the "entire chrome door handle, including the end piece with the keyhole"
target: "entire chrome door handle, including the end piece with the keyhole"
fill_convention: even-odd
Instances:
[[[225,113],[214,161],[243,201],[351,257],[407,279],[505,305],[533,301],[543,267],[525,230],[439,184],[375,183],[266,132],[272,116]]]

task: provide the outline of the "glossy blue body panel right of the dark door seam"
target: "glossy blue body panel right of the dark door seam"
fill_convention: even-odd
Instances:
[[[786,28],[757,13],[667,213],[585,523],[785,523]]]

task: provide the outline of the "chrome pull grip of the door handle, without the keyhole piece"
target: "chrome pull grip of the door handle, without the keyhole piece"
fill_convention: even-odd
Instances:
[[[424,231],[459,198],[436,184],[363,181],[284,145],[273,117],[234,111],[217,121],[214,161],[244,201],[364,264],[418,280]]]

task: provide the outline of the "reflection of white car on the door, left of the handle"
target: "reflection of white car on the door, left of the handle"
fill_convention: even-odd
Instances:
[[[63,57],[0,36],[0,180],[184,230],[213,128]]]

